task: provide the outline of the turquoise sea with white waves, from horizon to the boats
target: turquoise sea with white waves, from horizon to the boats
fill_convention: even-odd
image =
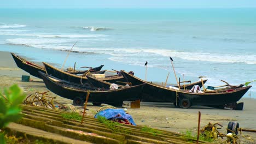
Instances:
[[[256,79],[256,9],[1,9],[0,50],[61,67],[133,70],[147,80],[206,85]],[[256,97],[253,86],[245,97]]]

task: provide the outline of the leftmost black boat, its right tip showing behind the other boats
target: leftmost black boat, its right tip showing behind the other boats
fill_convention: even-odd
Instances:
[[[12,52],[11,52],[11,56],[13,56],[13,59],[14,59],[16,65],[20,69],[25,70],[30,75],[33,75],[35,77],[38,77],[39,79],[42,79],[41,76],[38,74],[38,71],[46,73],[45,68],[41,65],[38,65],[38,64],[35,64],[33,62],[27,61],[26,59],[21,58],[20,56],[17,56]],[[106,71],[106,70],[100,71],[103,66],[104,65],[101,65],[100,67],[92,68],[90,70],[80,71],[79,73],[86,73],[88,71],[91,71],[91,73],[103,74]]]

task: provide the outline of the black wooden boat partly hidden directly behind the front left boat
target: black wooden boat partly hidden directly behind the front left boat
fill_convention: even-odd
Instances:
[[[70,74],[67,73],[63,70],[57,69],[55,67],[53,67],[53,65],[50,65],[48,63],[43,62],[45,70],[46,70],[46,74],[48,75],[52,75],[54,77],[57,77],[58,79],[61,80],[66,80],[66,81],[70,81],[70,82],[74,82],[74,83],[78,83],[81,85],[90,85],[88,83],[88,79],[85,75],[74,75],[74,74]],[[102,78],[98,78],[110,83],[117,83],[119,85],[124,85],[125,79],[123,76],[109,76],[109,77],[102,77]]]

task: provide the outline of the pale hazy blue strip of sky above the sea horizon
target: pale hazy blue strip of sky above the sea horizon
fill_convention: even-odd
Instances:
[[[0,8],[256,8],[256,0],[0,0]]]

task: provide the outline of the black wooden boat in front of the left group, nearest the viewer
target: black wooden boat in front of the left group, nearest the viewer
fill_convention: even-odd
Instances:
[[[79,85],[77,83],[68,82],[65,80],[57,79],[54,76],[39,72],[40,76],[45,83],[45,86],[53,93],[60,95],[63,98],[73,100],[74,105],[83,105],[86,95],[90,92],[88,101],[94,105],[110,104],[114,106],[123,105],[124,100],[137,100],[141,99],[142,88],[145,83],[141,85],[119,88],[110,90],[106,88],[97,88]]]

